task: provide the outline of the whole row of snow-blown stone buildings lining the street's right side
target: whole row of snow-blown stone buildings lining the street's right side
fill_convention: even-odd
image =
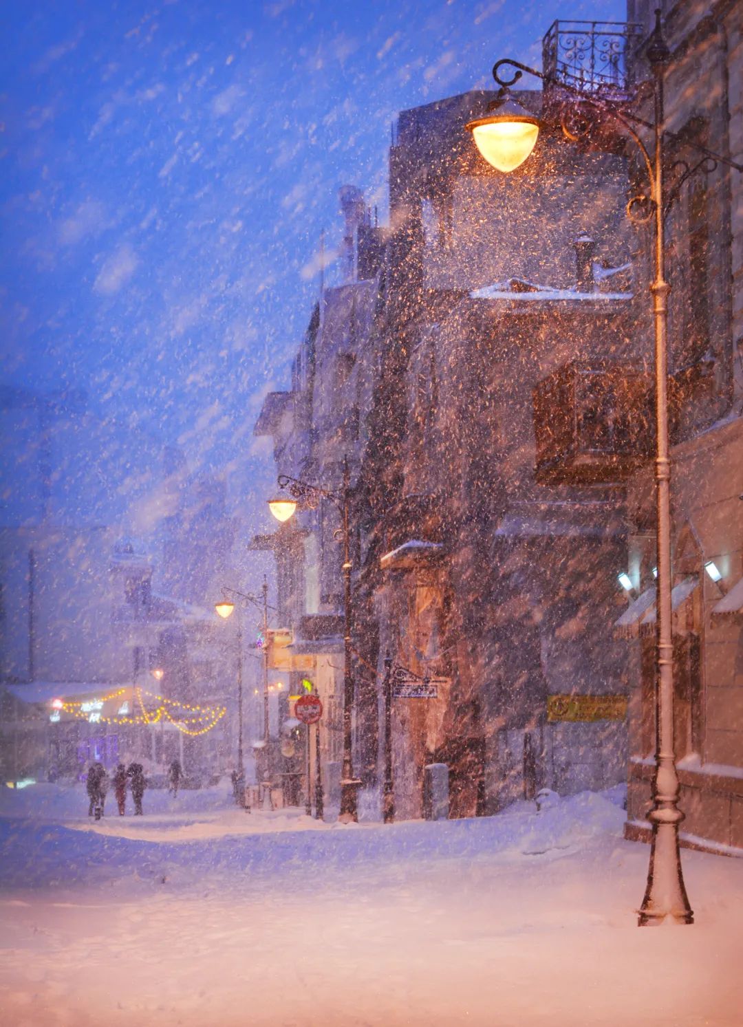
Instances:
[[[624,37],[623,102],[640,116],[649,6],[628,5]],[[690,159],[692,142],[740,160],[740,5],[666,6],[671,163]],[[389,656],[439,680],[436,698],[394,702],[397,815],[421,815],[431,762],[448,765],[450,814],[461,816],[541,788],[614,785],[631,756],[628,835],[642,835],[655,687],[651,239],[624,216],[641,168],[602,128],[579,146],[544,134],[501,176],[465,129],[490,99],[401,113],[389,227],[372,229],[345,194],[346,279],[322,291],[292,388],[267,397],[256,432],[272,435],[280,472],[326,487],[349,460],[364,811],[379,815]],[[518,99],[542,109],[540,93]],[[740,190],[720,165],[684,183],[668,219],[682,804],[691,836],[733,846]],[[294,522],[259,544],[276,555],[290,649],[313,661],[332,711],[323,752],[338,758],[337,510],[321,504]],[[710,560],[716,584],[703,573]]]

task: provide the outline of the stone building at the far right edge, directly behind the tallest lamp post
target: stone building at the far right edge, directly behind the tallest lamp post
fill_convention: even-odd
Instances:
[[[655,6],[629,3],[629,17],[646,30]],[[696,0],[663,7],[672,51],[669,167],[674,159],[699,159],[691,142],[743,163],[743,7]],[[668,232],[681,839],[730,851],[743,849],[743,174],[718,164],[690,178]],[[637,265],[644,290],[648,269],[639,254]],[[643,595],[653,598],[651,473],[642,468],[628,491],[637,603]],[[653,609],[625,619],[632,621],[625,629],[632,637],[627,834],[646,837],[655,749]]]

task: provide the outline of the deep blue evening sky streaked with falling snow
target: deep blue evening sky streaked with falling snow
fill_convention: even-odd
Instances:
[[[338,187],[383,217],[396,112],[489,87],[498,56],[538,66],[555,17],[624,4],[5,4],[2,380],[84,388],[250,479]]]

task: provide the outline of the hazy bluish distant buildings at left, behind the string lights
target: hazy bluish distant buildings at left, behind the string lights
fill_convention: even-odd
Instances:
[[[183,757],[175,707],[156,732],[134,730],[125,718],[115,729],[98,716],[70,721],[48,707],[52,698],[99,701],[135,687],[171,701],[224,700],[230,676],[221,650],[205,658],[214,610],[161,595],[153,576],[158,536],[172,531],[183,505],[180,467],[166,466],[158,440],[98,418],[82,394],[6,388],[0,400],[3,773],[11,779],[25,771],[70,772],[92,754],[107,764],[125,754],[160,764]],[[205,537],[216,545],[219,531],[229,531],[219,517],[213,521],[200,532],[187,524],[174,553],[181,564],[190,566],[189,538],[196,548]],[[147,542],[135,540],[137,531]],[[208,562],[199,554],[201,578]],[[203,600],[203,581],[199,589]],[[162,671],[159,681],[154,671]],[[186,764],[222,764],[226,726],[222,719],[208,743],[206,735],[187,735]]]

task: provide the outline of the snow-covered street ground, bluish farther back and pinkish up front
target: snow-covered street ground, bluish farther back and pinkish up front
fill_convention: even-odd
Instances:
[[[638,929],[616,800],[329,826],[221,788],[96,823],[81,786],[3,789],[0,1022],[738,1027],[743,861],[684,852],[697,923]]]

